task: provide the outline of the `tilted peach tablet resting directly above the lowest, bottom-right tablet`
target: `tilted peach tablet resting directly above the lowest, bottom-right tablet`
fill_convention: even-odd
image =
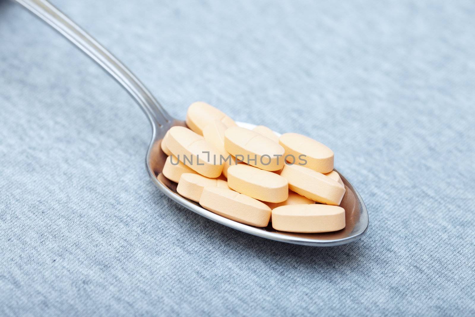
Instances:
[[[289,182],[289,189],[315,202],[339,205],[345,188],[322,173],[300,165],[285,165],[280,173]]]

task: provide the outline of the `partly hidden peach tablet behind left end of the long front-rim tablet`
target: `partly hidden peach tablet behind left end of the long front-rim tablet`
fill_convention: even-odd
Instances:
[[[183,197],[199,202],[203,188],[207,186],[229,189],[226,181],[208,178],[199,174],[184,173],[181,174],[180,181],[178,182],[177,192]]]

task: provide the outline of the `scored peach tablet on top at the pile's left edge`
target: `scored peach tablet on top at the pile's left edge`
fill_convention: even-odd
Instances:
[[[167,147],[181,163],[206,177],[218,177],[223,171],[219,153],[205,139],[183,126],[168,130]]]

